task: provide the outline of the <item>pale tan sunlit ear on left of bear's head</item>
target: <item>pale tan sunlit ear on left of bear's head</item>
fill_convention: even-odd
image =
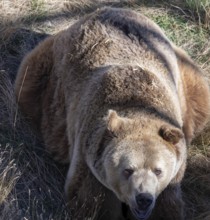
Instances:
[[[107,129],[111,132],[120,130],[123,127],[124,120],[118,116],[117,112],[114,110],[108,111],[107,120]]]

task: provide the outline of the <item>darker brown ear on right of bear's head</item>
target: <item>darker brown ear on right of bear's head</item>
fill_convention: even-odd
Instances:
[[[173,128],[167,125],[160,127],[159,135],[171,144],[177,144],[184,137],[182,131],[178,128]]]

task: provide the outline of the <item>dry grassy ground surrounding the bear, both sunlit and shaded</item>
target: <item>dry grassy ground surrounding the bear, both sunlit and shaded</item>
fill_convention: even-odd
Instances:
[[[210,6],[204,3],[205,0],[0,1],[0,219],[70,219],[63,196],[65,167],[45,153],[41,140],[36,139],[19,113],[15,119],[13,81],[23,56],[47,35],[98,7],[129,7],[156,21],[210,78]],[[210,219],[209,134],[210,126],[189,150],[183,191],[186,219],[190,220]]]

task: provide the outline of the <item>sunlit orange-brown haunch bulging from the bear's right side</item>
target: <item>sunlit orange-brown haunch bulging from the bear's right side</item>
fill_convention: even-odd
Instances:
[[[174,47],[182,77],[186,110],[183,131],[188,143],[209,120],[209,86],[202,71],[180,48]]]

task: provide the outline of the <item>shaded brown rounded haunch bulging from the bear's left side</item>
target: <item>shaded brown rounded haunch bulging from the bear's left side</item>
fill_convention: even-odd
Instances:
[[[42,99],[49,87],[54,65],[53,44],[54,37],[48,37],[27,54],[15,80],[19,108],[38,133],[42,120]]]

